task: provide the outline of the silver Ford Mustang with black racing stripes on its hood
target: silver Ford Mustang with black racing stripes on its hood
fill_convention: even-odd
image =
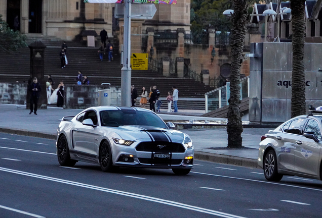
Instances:
[[[69,167],[77,161],[95,163],[104,172],[141,167],[185,175],[193,166],[193,144],[187,134],[173,129],[174,124],[143,108],[90,107],[59,124],[58,162]]]

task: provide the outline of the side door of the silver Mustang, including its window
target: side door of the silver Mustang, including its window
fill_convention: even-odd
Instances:
[[[82,122],[86,119],[91,119],[94,125],[97,125],[97,115],[95,111],[87,111]],[[75,151],[84,154],[96,154],[95,151],[95,136],[97,130],[95,127],[83,125],[77,122],[72,130],[73,146]],[[80,153],[80,154],[82,154]]]

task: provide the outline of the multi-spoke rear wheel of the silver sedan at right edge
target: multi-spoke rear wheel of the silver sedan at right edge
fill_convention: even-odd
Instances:
[[[264,175],[268,181],[278,182],[283,175],[277,173],[277,158],[273,150],[267,152],[264,158]]]

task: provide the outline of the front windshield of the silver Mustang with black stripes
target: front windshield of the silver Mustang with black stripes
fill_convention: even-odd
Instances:
[[[165,122],[157,115],[151,112],[119,110],[119,111],[101,111],[102,126],[153,126],[159,128],[168,128]]]

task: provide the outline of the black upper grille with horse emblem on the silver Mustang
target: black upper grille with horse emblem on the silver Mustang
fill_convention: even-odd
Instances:
[[[158,146],[160,145],[160,146]],[[173,142],[141,142],[135,148],[137,151],[174,152],[184,153],[185,149],[180,143]]]

